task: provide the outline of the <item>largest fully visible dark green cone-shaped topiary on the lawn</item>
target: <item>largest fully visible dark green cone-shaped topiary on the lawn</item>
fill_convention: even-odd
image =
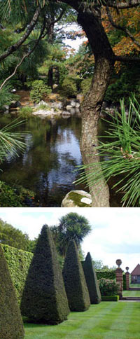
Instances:
[[[20,307],[29,320],[45,324],[58,324],[69,314],[62,272],[47,225],[38,237]]]

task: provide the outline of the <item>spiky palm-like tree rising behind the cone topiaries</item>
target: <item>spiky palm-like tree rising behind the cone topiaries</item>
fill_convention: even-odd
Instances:
[[[52,226],[50,229],[59,254],[65,256],[69,242],[74,240],[77,248],[80,248],[84,237],[90,233],[91,226],[84,216],[71,212],[59,219],[58,226]]]

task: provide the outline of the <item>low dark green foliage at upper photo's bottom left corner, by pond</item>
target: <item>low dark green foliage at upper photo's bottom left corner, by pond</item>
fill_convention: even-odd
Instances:
[[[22,186],[10,186],[0,181],[0,207],[28,207],[27,198],[34,200],[34,192]]]

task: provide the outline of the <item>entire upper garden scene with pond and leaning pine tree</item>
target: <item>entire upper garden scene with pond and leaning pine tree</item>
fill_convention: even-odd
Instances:
[[[139,4],[0,1],[1,207],[139,207]]]

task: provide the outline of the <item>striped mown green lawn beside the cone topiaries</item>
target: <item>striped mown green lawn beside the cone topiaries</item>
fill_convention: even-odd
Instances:
[[[140,339],[140,303],[102,302],[57,326],[25,324],[25,339]]]

